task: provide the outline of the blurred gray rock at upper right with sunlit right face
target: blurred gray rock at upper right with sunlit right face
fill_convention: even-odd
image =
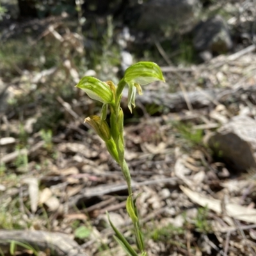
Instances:
[[[231,49],[232,45],[227,23],[220,15],[201,22],[195,29],[194,46],[198,51],[221,54]]]

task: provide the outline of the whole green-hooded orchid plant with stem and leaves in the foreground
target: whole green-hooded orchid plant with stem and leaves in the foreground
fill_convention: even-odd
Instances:
[[[164,81],[159,66],[156,65],[156,63],[141,61],[127,68],[124,77],[117,86],[115,86],[112,81],[102,82],[95,77],[83,77],[76,85],[77,88],[84,90],[92,99],[99,100],[103,103],[100,116],[89,116],[85,118],[84,122],[91,125],[100,138],[105,141],[109,154],[111,154],[113,159],[120,165],[129,193],[126,209],[134,225],[136,246],[141,256],[146,256],[147,252],[145,251],[138,210],[136,208],[137,197],[134,198],[132,194],[131,175],[124,159],[124,113],[122,108],[120,108],[120,103],[124,87],[128,85],[128,108],[132,112],[132,106],[135,106],[136,91],[138,91],[139,94],[142,93],[140,85],[159,80]],[[108,109],[110,109],[110,126],[106,122]],[[131,256],[139,255],[121,232],[113,225],[110,219],[109,223],[115,231],[115,240],[124,248],[125,252]]]

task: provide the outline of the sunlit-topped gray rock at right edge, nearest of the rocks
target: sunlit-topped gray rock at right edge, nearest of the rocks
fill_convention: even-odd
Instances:
[[[256,120],[235,116],[208,139],[208,144],[237,170],[256,168]]]

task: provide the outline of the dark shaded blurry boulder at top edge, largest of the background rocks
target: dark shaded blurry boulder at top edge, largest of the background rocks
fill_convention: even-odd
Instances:
[[[198,0],[149,0],[141,4],[137,28],[149,31],[179,29],[189,31],[200,10]]]

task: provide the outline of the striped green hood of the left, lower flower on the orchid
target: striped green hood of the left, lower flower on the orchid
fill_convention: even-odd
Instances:
[[[84,76],[76,85],[88,94],[91,99],[99,100],[104,104],[113,103],[114,95],[109,84],[91,76]]]

